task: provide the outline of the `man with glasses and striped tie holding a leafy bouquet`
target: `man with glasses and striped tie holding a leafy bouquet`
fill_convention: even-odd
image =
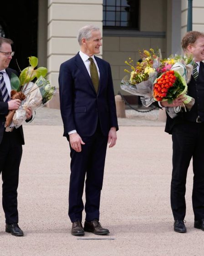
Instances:
[[[10,100],[11,73],[17,72],[8,68],[14,52],[12,40],[0,37],[0,173],[2,175],[2,203],[5,212],[5,231],[15,236],[23,236],[18,226],[17,188],[19,166],[24,144],[23,129],[5,128],[5,116],[9,110],[18,109],[20,100]],[[31,111],[27,110],[30,120]]]

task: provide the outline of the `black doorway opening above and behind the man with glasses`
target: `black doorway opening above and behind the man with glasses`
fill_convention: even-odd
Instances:
[[[19,71],[28,66],[28,57],[37,57],[38,0],[1,1],[0,26],[14,41],[15,54],[9,67]]]

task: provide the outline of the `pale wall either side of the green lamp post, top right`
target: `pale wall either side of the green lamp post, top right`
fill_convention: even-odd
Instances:
[[[182,0],[181,38],[187,32],[188,0]],[[204,0],[193,0],[193,30],[204,32]]]

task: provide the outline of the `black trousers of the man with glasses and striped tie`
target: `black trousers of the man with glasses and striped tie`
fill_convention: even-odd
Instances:
[[[22,156],[20,133],[14,129],[4,132],[0,144],[0,173],[2,175],[2,204],[6,224],[18,223],[17,188]]]

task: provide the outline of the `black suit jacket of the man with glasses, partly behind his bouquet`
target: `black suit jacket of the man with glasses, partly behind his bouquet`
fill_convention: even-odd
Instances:
[[[11,77],[11,73],[15,73],[16,75],[18,75],[14,69],[7,68],[5,69],[5,71],[8,74],[9,78]],[[3,97],[0,90],[0,143],[3,139],[4,130],[5,130],[5,116],[8,114],[8,112],[9,112],[8,103],[3,101]],[[25,144],[25,142],[24,142],[22,126],[20,126],[17,130],[19,133],[20,142],[23,145]]]

